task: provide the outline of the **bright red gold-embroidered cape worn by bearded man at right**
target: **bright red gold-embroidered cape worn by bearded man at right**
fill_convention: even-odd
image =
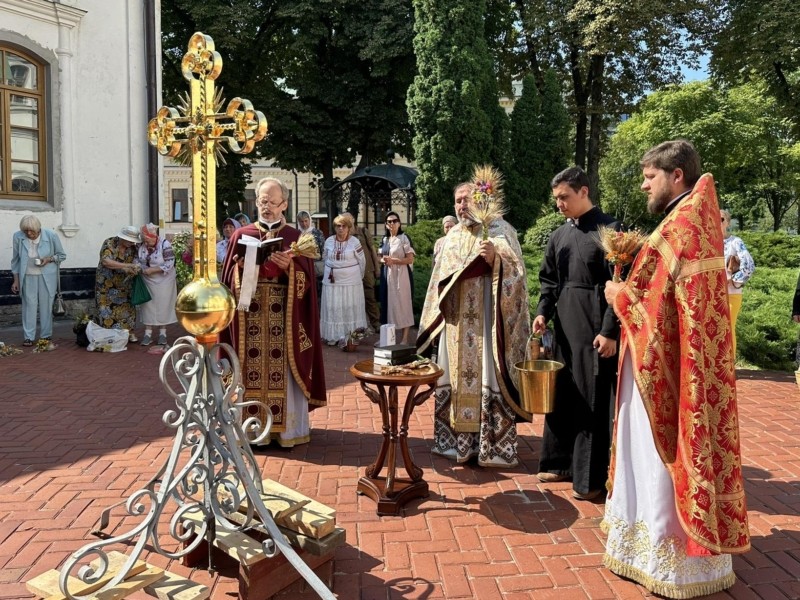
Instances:
[[[746,552],[727,281],[710,174],[642,247],[614,310],[622,324],[620,357],[630,350],[655,445],[675,487],[687,553]],[[612,448],[612,482],[615,459]]]

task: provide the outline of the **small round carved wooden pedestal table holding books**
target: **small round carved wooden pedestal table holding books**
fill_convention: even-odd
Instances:
[[[369,496],[378,503],[379,515],[396,515],[400,508],[414,498],[428,496],[428,484],[422,479],[422,469],[414,464],[408,449],[408,420],[414,407],[427,400],[442,376],[442,369],[431,364],[419,369],[413,375],[383,375],[375,372],[372,359],[362,360],[350,367],[350,372],[358,379],[361,389],[372,402],[381,409],[383,419],[383,442],[375,462],[364,471],[358,480],[357,493]],[[420,386],[426,389],[417,393]],[[397,388],[408,387],[403,404],[403,417],[399,422]],[[397,450],[403,457],[403,467],[408,477],[396,475]],[[386,463],[386,476],[381,476]]]

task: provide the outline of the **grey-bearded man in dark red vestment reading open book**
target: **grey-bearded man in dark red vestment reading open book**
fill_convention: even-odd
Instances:
[[[259,403],[243,418],[257,416],[264,425],[269,411],[266,443],[292,447],[311,440],[308,413],[326,403],[314,261],[290,248],[300,232],[286,224],[283,182],[262,179],[256,198],[258,220],[233,232],[222,266],[238,312],[220,337],[239,356],[243,400]]]

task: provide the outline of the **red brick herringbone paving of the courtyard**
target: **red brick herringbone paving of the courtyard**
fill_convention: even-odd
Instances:
[[[177,329],[171,333],[172,337]],[[19,345],[18,330],[0,339]],[[101,510],[139,489],[168,455],[170,406],[160,356],[132,346],[89,354],[69,324],[56,351],[0,358],[0,598],[30,598],[24,582],[58,567],[94,539]],[[312,442],[261,452],[264,475],[335,507],[347,530],[336,553],[339,598],[639,598],[641,587],[602,566],[601,503],[578,502],[569,484],[535,479],[541,420],[522,425],[522,465],[510,471],[432,457],[432,401],[413,417],[410,444],[430,497],[400,517],[378,517],[356,482],[374,458],[376,408],[347,367],[367,358],[325,349],[329,404],[312,414]],[[744,473],[753,550],[734,558],[736,585],[714,598],[800,598],[800,394],[787,374],[739,374]],[[123,522],[118,531],[130,528]],[[235,598],[231,573],[210,577],[161,557],[149,560]],[[314,597],[295,586],[282,598]]]

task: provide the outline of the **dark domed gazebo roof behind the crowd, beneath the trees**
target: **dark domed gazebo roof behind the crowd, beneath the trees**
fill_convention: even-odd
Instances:
[[[410,225],[417,219],[417,196],[414,181],[417,170],[396,165],[389,160],[384,165],[358,169],[328,190],[328,219],[343,212],[355,216],[359,225],[373,235],[383,232],[386,213],[397,211]]]

